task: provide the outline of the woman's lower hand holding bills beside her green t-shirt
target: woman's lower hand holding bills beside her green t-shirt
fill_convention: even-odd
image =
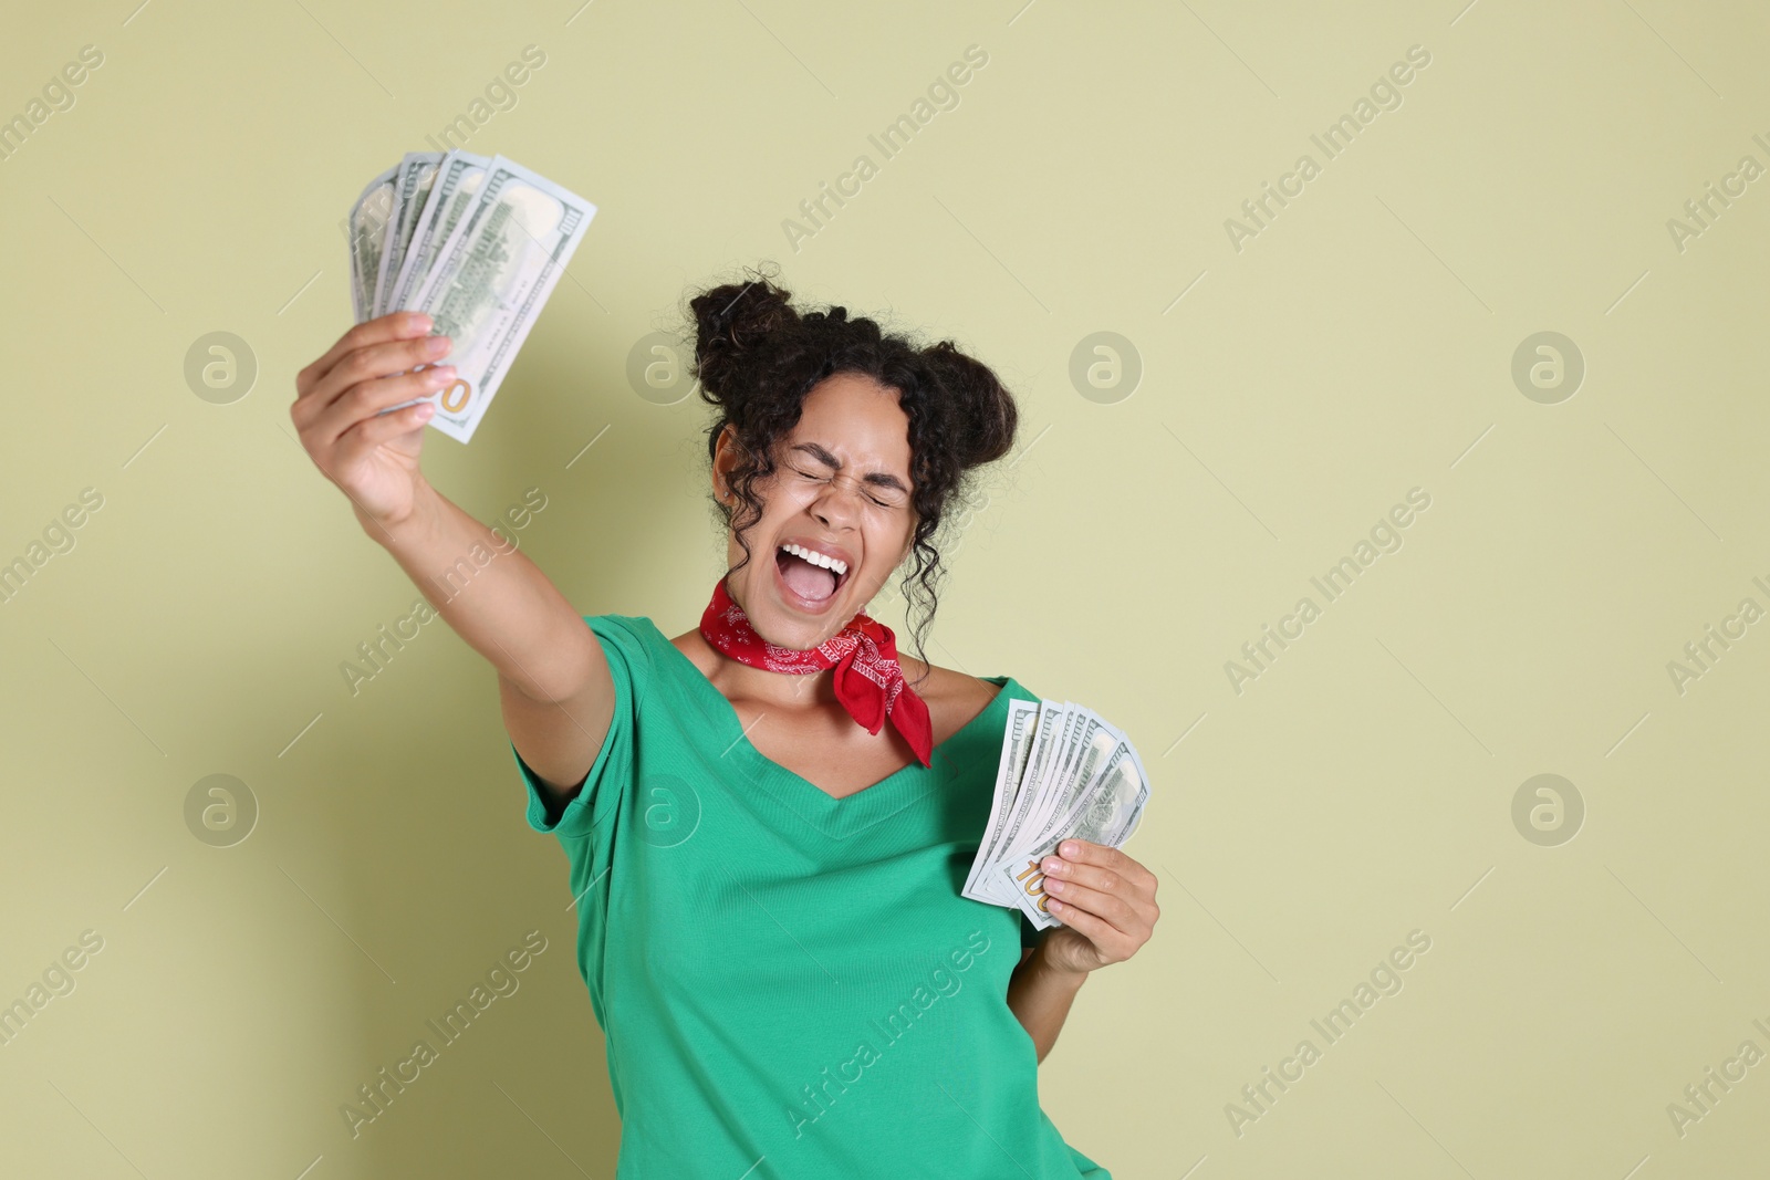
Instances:
[[[1085,973],[1124,962],[1149,941],[1161,909],[1156,874],[1117,847],[1064,840],[1046,856],[1046,906],[1062,925],[1039,945],[1048,966]]]

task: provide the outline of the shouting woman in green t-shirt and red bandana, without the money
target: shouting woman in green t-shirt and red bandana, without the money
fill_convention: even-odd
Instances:
[[[931,538],[1012,446],[995,373],[950,341],[800,317],[765,276],[692,299],[717,407],[727,573],[701,624],[579,616],[520,552],[435,601],[497,669],[535,830],[559,839],[579,971],[620,1107],[616,1176],[1092,1176],[1039,1109],[1037,1063],[1094,971],[1154,927],[1124,853],[1046,858],[1039,936],[959,895],[986,826],[1009,676],[899,658],[867,601],[933,619]],[[421,315],[345,333],[297,379],[303,446],[427,596],[476,547],[418,455],[446,386]],[[618,559],[618,556],[611,556]]]

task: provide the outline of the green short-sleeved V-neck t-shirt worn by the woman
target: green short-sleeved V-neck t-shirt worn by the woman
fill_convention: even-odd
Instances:
[[[750,745],[646,617],[584,619],[614,720],[529,824],[570,862],[577,966],[621,1113],[616,1180],[1110,1180],[1039,1109],[1007,1007],[1037,932],[959,895],[989,819],[1007,676],[970,724],[835,800]]]

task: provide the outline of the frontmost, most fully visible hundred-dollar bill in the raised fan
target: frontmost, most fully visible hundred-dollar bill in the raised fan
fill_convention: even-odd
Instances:
[[[432,426],[460,442],[473,439],[595,214],[577,193],[503,156],[492,159],[478,205],[457,221],[405,304],[430,315],[430,334],[451,340],[437,364],[453,364],[457,380],[428,398],[437,403]]]

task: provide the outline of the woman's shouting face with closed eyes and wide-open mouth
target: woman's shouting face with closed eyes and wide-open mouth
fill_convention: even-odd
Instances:
[[[715,495],[729,495],[735,458],[727,428],[713,462]],[[910,419],[897,391],[857,373],[820,382],[777,442],[775,474],[754,488],[763,517],[745,534],[750,561],[727,589],[768,642],[816,647],[867,605],[910,550]],[[736,533],[726,561],[743,561]]]

